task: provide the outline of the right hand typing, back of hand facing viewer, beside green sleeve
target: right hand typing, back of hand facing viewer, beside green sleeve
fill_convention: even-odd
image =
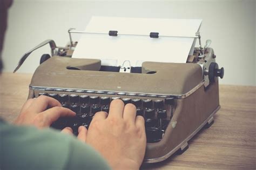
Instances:
[[[91,121],[86,143],[99,151],[113,169],[139,169],[146,149],[144,118],[136,107],[113,100],[109,115],[98,112]]]

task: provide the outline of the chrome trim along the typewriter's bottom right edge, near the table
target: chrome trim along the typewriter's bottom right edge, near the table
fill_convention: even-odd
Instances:
[[[192,132],[183,142],[181,142],[178,146],[176,146],[174,149],[172,149],[172,151],[170,151],[169,153],[167,153],[166,155],[164,155],[163,157],[159,157],[159,158],[153,158],[153,159],[145,159],[143,160],[143,163],[155,163],[155,162],[160,162],[163,161],[167,158],[169,158],[172,154],[174,154],[176,151],[178,151],[179,148],[181,148],[182,146],[184,146],[186,143],[188,143],[188,141],[194,137],[194,135],[196,135],[201,128],[203,128],[205,126],[205,124],[208,123],[208,121],[210,119],[213,119],[213,115],[220,109],[220,105],[215,108],[215,110],[212,112],[212,114],[210,114],[208,116],[208,118],[194,131]]]

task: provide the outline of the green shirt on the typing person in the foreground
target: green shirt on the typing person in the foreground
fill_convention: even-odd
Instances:
[[[0,120],[0,169],[110,169],[89,145],[57,130]]]

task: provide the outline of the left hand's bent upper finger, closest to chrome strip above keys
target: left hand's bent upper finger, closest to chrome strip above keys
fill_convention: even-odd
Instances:
[[[40,113],[45,111],[47,108],[62,106],[58,100],[48,96],[39,96],[30,106],[30,111],[33,113]]]

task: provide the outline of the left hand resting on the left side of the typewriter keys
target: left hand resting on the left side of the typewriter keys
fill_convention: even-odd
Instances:
[[[59,117],[75,115],[76,113],[69,108],[62,107],[58,100],[42,95],[26,101],[14,124],[44,128],[49,127]]]

